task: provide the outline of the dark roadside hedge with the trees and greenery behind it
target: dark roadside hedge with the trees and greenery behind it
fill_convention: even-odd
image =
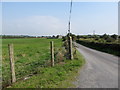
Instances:
[[[73,41],[89,48],[120,56],[120,35],[75,35],[70,33]],[[68,34],[63,37],[63,41],[68,40]]]

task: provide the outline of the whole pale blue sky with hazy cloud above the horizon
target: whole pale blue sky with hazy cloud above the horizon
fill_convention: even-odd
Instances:
[[[2,34],[66,35],[70,2],[3,2]],[[73,2],[71,33],[118,33],[117,2]]]

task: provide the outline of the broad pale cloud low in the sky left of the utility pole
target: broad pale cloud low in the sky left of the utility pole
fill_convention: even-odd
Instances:
[[[57,35],[66,34],[64,20],[53,16],[31,16],[26,18],[3,20],[3,34]]]

